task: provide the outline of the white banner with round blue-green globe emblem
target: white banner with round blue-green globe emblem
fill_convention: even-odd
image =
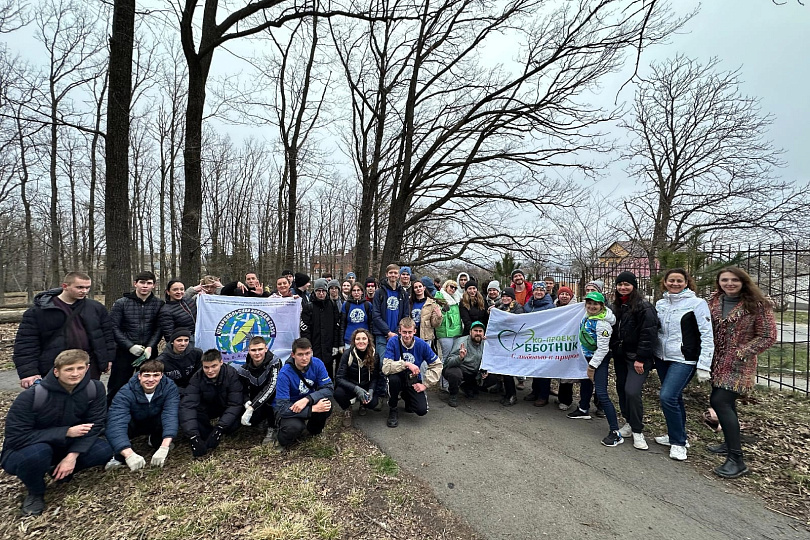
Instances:
[[[245,298],[201,294],[197,297],[195,346],[217,349],[225,362],[243,364],[248,343],[262,336],[273,354],[285,361],[300,337],[300,298]]]

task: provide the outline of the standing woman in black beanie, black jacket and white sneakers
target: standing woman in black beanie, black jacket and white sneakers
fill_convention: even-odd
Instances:
[[[655,308],[638,291],[638,280],[632,272],[616,276],[616,290],[611,310],[616,316],[610,350],[616,370],[616,392],[625,424],[622,437],[633,435],[633,447],[647,450],[644,440],[644,403],[641,390],[655,361],[658,339],[658,315]],[[600,399],[601,404],[601,399]]]

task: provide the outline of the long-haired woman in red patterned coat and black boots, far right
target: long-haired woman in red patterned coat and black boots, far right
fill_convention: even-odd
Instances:
[[[740,444],[737,399],[754,387],[757,355],[776,341],[773,305],[742,268],[729,266],[717,274],[717,290],[709,298],[714,327],[711,372],[698,366],[698,379],[712,381],[711,405],[723,428],[725,442],[709,447],[727,455],[714,469],[724,478],[748,472]]]

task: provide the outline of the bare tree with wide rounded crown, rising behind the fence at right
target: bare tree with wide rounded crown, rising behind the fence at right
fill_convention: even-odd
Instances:
[[[626,153],[643,190],[624,202],[630,234],[651,271],[661,250],[704,234],[745,230],[791,238],[807,224],[808,186],[776,176],[782,151],[767,139],[773,117],[740,90],[739,71],[679,55],[639,83]]]

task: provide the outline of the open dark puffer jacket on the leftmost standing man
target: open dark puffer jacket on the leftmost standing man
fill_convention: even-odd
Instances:
[[[64,351],[67,315],[53,299],[62,294],[62,289],[51,289],[34,297],[34,305],[23,314],[22,322],[14,338],[14,365],[20,379],[53,371],[53,361]],[[90,361],[99,370],[106,371],[107,364],[115,358],[113,324],[107,309],[89,298],[78,300],[84,306],[77,317],[81,318],[87,341],[90,345]],[[78,309],[78,305],[76,309]]]

